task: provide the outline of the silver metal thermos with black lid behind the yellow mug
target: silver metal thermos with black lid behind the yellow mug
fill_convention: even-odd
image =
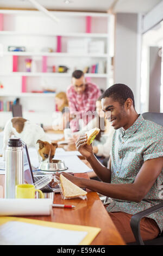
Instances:
[[[15,198],[15,186],[24,183],[21,139],[11,138],[5,151],[5,198]]]

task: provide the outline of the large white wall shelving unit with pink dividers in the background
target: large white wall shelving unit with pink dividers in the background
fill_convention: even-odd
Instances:
[[[75,69],[84,70],[85,66],[97,63],[103,64],[102,72],[86,73],[86,79],[96,83],[101,89],[108,88],[113,82],[111,57],[114,47],[114,16],[66,11],[52,13],[58,17],[59,23],[39,11],[0,10],[0,85],[3,85],[3,88],[0,87],[0,101],[12,101],[20,97],[23,113],[35,120],[41,109],[40,123],[45,125],[51,125],[45,117],[55,111],[55,94],[32,91],[66,91]],[[80,40],[88,45],[90,42],[103,41],[104,51],[90,52],[88,47],[86,52],[67,52],[70,40]],[[9,52],[8,46],[24,46],[26,51]],[[47,48],[51,48],[53,52],[48,52]],[[15,71],[13,56],[17,56]],[[33,59],[32,63],[35,63],[35,70],[33,65],[32,72],[26,72],[26,58]],[[42,68],[43,58],[46,58],[46,71]],[[67,66],[68,72],[52,72],[52,67],[55,66],[57,70],[59,65]],[[22,92],[23,77],[26,78],[26,92]],[[0,127],[3,126],[2,118],[8,119],[9,115],[10,113],[0,112]]]

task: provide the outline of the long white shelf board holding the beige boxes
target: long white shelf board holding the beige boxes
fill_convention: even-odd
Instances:
[[[103,54],[80,54],[80,53],[67,53],[67,52],[1,52],[1,56],[48,56],[48,57],[95,57],[95,58],[107,58],[107,53]]]

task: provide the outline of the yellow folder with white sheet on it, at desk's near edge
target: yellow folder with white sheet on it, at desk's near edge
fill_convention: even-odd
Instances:
[[[0,217],[0,230],[1,244],[5,238],[8,245],[90,245],[101,229],[85,225]]]

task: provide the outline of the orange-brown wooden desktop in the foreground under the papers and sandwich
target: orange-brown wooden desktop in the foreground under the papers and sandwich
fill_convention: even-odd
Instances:
[[[87,178],[87,174],[75,174],[78,177]],[[4,175],[0,175],[0,185],[4,186]],[[22,216],[35,220],[52,221],[67,224],[88,225],[101,228],[100,233],[92,241],[91,245],[125,245],[114,223],[105,210],[96,192],[88,192],[87,200],[61,199],[60,193],[56,193],[54,203],[72,204],[75,209],[53,208],[51,216]]]

